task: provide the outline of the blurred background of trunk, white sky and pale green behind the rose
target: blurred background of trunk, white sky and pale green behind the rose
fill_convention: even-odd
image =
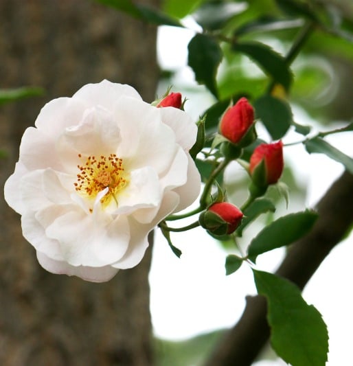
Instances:
[[[170,14],[172,3],[144,1],[163,5]],[[239,24],[255,14],[271,14],[274,6],[273,1],[232,3],[239,6],[234,18]],[[350,0],[332,0],[333,4],[353,19]],[[0,17],[0,89],[35,86],[45,91],[0,105],[2,185],[14,169],[23,131],[34,124],[45,102],[71,96],[88,82],[103,78],[126,82],[148,102],[172,85],[172,91],[187,98],[185,110],[195,122],[215,102],[187,67],[187,43],[199,30],[190,17],[183,20],[188,30],[166,26],[157,30],[88,0],[1,0]],[[249,37],[285,54],[301,26],[294,22]],[[295,122],[312,125],[315,131],[352,122],[352,62],[352,43],[323,32],[312,34],[293,63]],[[244,56],[229,52],[220,65],[221,98],[255,98],[264,83],[262,71]],[[260,126],[258,133],[269,140]],[[290,131],[284,143],[300,139]],[[352,156],[352,133],[330,136],[328,141]],[[339,163],[308,155],[301,144],[285,148],[285,159],[288,211],[314,207],[343,172]],[[231,202],[243,203],[247,182],[247,174],[236,163],[229,166],[225,183]],[[277,211],[247,229],[240,242],[243,249],[262,225],[287,212],[284,200],[271,194],[278,202]],[[19,216],[3,200],[0,218],[1,365],[202,365],[223,329],[239,319],[245,296],[255,293],[246,266],[225,276],[225,257],[234,249],[201,229],[172,236],[183,251],[181,259],[156,231],[155,244],[139,266],[121,271],[107,284],[90,284],[45,272],[22,238]],[[262,255],[258,268],[274,270],[284,254],[278,249]],[[306,301],[328,325],[330,366],[350,360],[351,255],[352,236],[330,253],[304,290]],[[261,357],[255,365],[283,365],[269,350]]]

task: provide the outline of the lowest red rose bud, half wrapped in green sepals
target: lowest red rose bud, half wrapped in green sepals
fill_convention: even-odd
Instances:
[[[200,224],[216,236],[233,233],[240,225],[242,211],[228,202],[218,202],[211,205],[200,215]]]

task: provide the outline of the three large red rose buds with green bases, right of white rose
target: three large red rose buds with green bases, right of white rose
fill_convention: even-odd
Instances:
[[[236,159],[242,148],[256,138],[255,113],[247,98],[240,98],[220,119],[220,134],[227,139],[222,146],[226,159]],[[284,168],[282,141],[260,144],[253,150],[249,162],[250,192],[255,198],[266,192],[269,185],[277,183]],[[200,216],[200,224],[216,236],[233,233],[242,221],[242,211],[227,202],[210,205]]]

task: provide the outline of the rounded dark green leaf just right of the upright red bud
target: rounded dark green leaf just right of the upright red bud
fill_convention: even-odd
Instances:
[[[256,118],[260,118],[274,140],[281,139],[292,122],[292,111],[288,103],[271,95],[264,95],[253,103]]]

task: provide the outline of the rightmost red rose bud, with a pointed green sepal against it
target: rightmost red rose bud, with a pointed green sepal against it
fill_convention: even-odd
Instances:
[[[277,183],[282,175],[283,166],[282,141],[273,144],[260,144],[251,155],[249,172],[253,178],[253,183],[262,187]]]

